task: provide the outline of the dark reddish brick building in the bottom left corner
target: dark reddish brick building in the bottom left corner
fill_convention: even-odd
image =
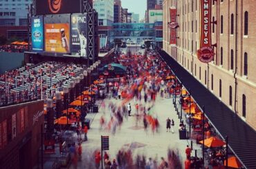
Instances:
[[[44,101],[0,108],[1,169],[33,168],[39,163]]]

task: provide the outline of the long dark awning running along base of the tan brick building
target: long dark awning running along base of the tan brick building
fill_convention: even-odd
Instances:
[[[197,81],[169,54],[159,52],[167,65],[181,79],[185,88],[190,88],[191,95],[202,108],[205,116],[223,139],[228,136],[228,146],[246,168],[256,168],[256,131],[238,117],[235,112],[215,97],[210,90]]]

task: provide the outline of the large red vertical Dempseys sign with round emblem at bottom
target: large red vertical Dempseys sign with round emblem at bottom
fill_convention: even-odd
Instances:
[[[203,63],[209,63],[214,58],[211,39],[211,8],[212,1],[201,0],[201,40],[197,57]]]

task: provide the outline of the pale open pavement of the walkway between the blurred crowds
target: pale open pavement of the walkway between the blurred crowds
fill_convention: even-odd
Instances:
[[[101,135],[109,136],[109,157],[116,159],[118,150],[121,148],[129,148],[131,144],[132,147],[136,146],[138,148],[133,148],[133,156],[136,155],[145,155],[147,159],[152,157],[156,159],[158,163],[161,161],[161,157],[167,159],[167,149],[176,151],[181,159],[181,163],[184,168],[185,161],[185,148],[187,145],[190,145],[190,140],[180,140],[179,139],[179,118],[176,114],[174,105],[171,99],[162,99],[161,97],[156,98],[154,108],[152,112],[155,112],[155,117],[158,118],[160,127],[158,132],[154,134],[149,130],[146,132],[143,128],[143,121],[138,123],[136,126],[136,117],[131,116],[128,119],[124,118],[121,128],[116,130],[116,134],[112,135],[111,132],[106,130],[100,130],[100,117],[104,115],[105,117],[110,117],[110,111],[108,110],[108,103],[113,102],[120,104],[121,100],[119,99],[104,99],[106,104],[106,109],[103,111],[103,108],[100,107],[98,113],[90,113],[86,117],[91,119],[91,128],[87,134],[88,141],[82,143],[82,160],[78,161],[77,168],[90,168],[94,167],[94,157],[93,152],[95,150],[100,150],[101,148]],[[177,99],[178,102],[178,99]],[[134,114],[136,101],[131,100],[131,114]],[[142,101],[144,104],[144,101]],[[180,106],[178,106],[180,107]],[[174,119],[174,133],[166,132],[166,119]],[[183,119],[185,116],[183,115]],[[185,123],[185,119],[184,119]],[[188,126],[187,126],[188,130]],[[197,157],[201,157],[201,146],[193,143],[193,149],[197,150]],[[194,150],[192,151],[192,156],[194,156]],[[73,165],[68,168],[74,168]]]

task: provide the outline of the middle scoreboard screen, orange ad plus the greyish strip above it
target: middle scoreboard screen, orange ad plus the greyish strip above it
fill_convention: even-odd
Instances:
[[[55,14],[44,17],[44,52],[70,53],[70,40],[70,14]]]

